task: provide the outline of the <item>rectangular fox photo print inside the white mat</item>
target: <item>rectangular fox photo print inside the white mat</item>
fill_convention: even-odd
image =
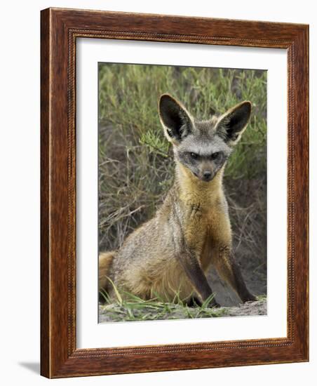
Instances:
[[[99,63],[99,321],[267,314],[267,72]]]

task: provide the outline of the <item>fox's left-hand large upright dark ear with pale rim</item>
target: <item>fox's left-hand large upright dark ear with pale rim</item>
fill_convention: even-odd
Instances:
[[[185,107],[168,94],[161,95],[158,112],[166,138],[172,143],[180,142],[193,128],[193,120]]]

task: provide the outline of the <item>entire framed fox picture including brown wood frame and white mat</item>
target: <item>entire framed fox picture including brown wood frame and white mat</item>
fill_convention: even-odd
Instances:
[[[308,361],[307,25],[41,11],[41,374]]]

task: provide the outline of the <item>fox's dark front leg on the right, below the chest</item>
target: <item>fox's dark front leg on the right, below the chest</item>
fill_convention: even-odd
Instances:
[[[231,248],[229,246],[220,246],[218,255],[214,259],[214,265],[220,276],[226,280],[243,302],[255,300],[255,296],[250,293],[245,281],[243,280],[241,269],[238,266]]]

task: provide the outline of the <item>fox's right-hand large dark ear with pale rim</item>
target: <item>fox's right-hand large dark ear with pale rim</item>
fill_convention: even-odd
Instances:
[[[241,102],[225,112],[217,122],[217,133],[234,146],[241,138],[251,115],[251,102]]]

